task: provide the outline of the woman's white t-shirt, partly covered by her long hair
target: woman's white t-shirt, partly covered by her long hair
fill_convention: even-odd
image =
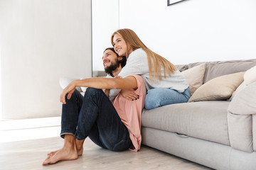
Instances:
[[[153,68],[152,68],[153,69]],[[159,81],[150,81],[149,79],[149,62],[147,59],[146,52],[139,48],[134,50],[127,59],[127,64],[122,68],[121,72],[119,72],[119,76],[125,78],[129,75],[137,74],[141,75],[144,78],[146,89],[154,89],[154,88],[169,88],[174,89],[180,93],[185,91],[188,88],[188,83],[178,70],[171,74],[169,77],[166,74],[166,78],[164,78],[164,69],[161,69],[162,80]],[[154,79],[154,77],[152,77]],[[119,94],[120,89],[110,89],[110,100],[112,101],[117,94]]]

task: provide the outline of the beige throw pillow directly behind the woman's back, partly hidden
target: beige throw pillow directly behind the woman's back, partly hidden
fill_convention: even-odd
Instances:
[[[206,63],[200,64],[196,67],[192,67],[191,69],[186,69],[181,72],[185,77],[186,81],[189,84],[189,89],[191,91],[191,96],[193,93],[203,84],[203,77],[206,72]]]

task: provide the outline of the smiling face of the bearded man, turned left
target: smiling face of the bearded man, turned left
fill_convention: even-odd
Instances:
[[[106,50],[103,54],[102,61],[105,72],[111,74],[120,65],[122,57],[117,57],[117,55],[112,52],[112,50]]]

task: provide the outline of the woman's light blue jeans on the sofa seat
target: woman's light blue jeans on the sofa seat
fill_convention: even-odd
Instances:
[[[145,108],[149,110],[174,103],[186,103],[190,97],[189,87],[183,93],[166,88],[150,89],[146,94]]]

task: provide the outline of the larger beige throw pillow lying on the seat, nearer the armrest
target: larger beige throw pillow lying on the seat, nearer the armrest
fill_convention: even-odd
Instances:
[[[211,79],[206,84],[200,86],[188,102],[228,99],[233,94],[233,91],[242,83],[244,74],[245,72],[238,72]]]

